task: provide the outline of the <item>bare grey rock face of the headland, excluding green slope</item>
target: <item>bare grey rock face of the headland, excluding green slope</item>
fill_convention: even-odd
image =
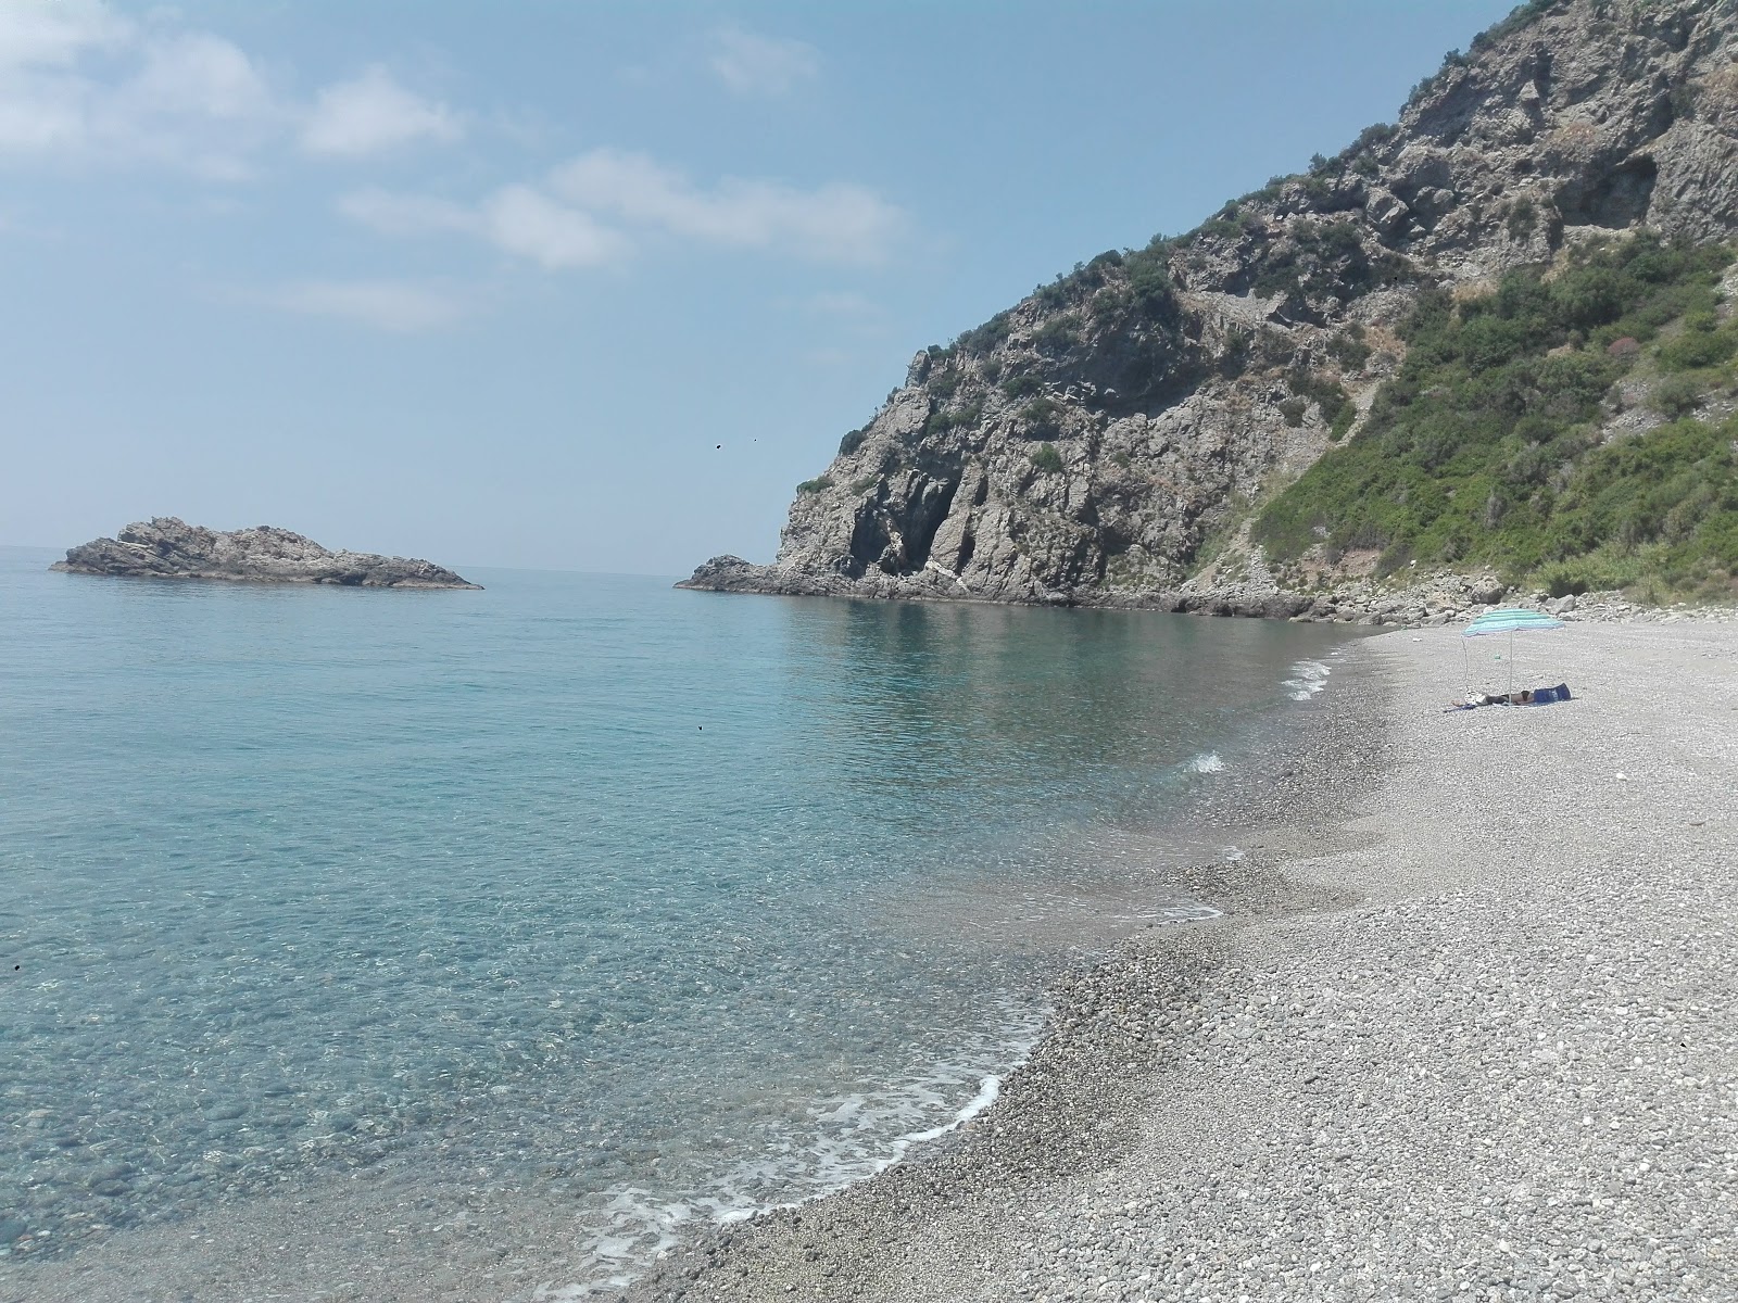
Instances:
[[[1422,294],[1589,236],[1738,229],[1735,33],[1715,0],[1522,5],[1396,125],[919,353],[773,565],[685,585],[1302,610],[1250,518],[1359,438]]]

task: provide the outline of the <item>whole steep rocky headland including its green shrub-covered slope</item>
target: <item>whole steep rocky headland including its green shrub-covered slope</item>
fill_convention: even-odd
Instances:
[[[919,353],[772,565],[683,585],[1729,599],[1735,231],[1738,12],[1533,0],[1396,125]]]

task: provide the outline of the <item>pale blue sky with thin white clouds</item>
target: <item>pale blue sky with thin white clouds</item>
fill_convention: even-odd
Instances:
[[[1510,7],[0,0],[0,544],[768,561],[918,349]]]

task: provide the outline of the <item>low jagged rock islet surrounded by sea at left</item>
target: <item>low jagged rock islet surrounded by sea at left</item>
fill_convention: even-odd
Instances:
[[[332,552],[299,533],[261,525],[219,533],[174,516],[129,525],[66,552],[50,570],[70,575],[226,579],[268,584],[344,584],[368,589],[476,589],[433,561]]]

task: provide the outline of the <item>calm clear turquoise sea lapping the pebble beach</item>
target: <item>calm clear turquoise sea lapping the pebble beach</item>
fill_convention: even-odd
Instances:
[[[1343,638],[49,559],[0,551],[10,1268],[379,1174],[572,1213],[577,1291],[869,1174],[1071,945],[1197,910],[1137,834]]]

